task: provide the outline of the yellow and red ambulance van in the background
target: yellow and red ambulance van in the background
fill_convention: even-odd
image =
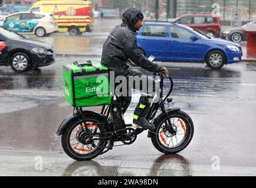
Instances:
[[[74,36],[93,31],[91,1],[42,0],[36,1],[29,11],[54,14],[58,32],[69,32]]]

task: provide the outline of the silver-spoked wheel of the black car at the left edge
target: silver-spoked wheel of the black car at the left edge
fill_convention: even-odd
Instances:
[[[11,58],[11,68],[15,72],[25,72],[31,66],[30,58],[26,53],[15,53]]]

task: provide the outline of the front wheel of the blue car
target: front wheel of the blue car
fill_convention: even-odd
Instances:
[[[212,51],[206,56],[206,63],[212,69],[220,69],[226,63],[226,58],[221,51]]]

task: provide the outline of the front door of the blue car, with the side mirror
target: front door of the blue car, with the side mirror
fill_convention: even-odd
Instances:
[[[169,32],[169,44],[166,48],[169,51],[170,61],[202,61],[205,45],[196,33],[176,25],[169,26]],[[198,39],[192,41],[192,35],[196,35]]]

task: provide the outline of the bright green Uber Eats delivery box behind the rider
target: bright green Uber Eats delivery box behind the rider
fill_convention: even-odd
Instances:
[[[99,62],[64,65],[63,76],[65,99],[72,106],[110,104],[109,70]]]

